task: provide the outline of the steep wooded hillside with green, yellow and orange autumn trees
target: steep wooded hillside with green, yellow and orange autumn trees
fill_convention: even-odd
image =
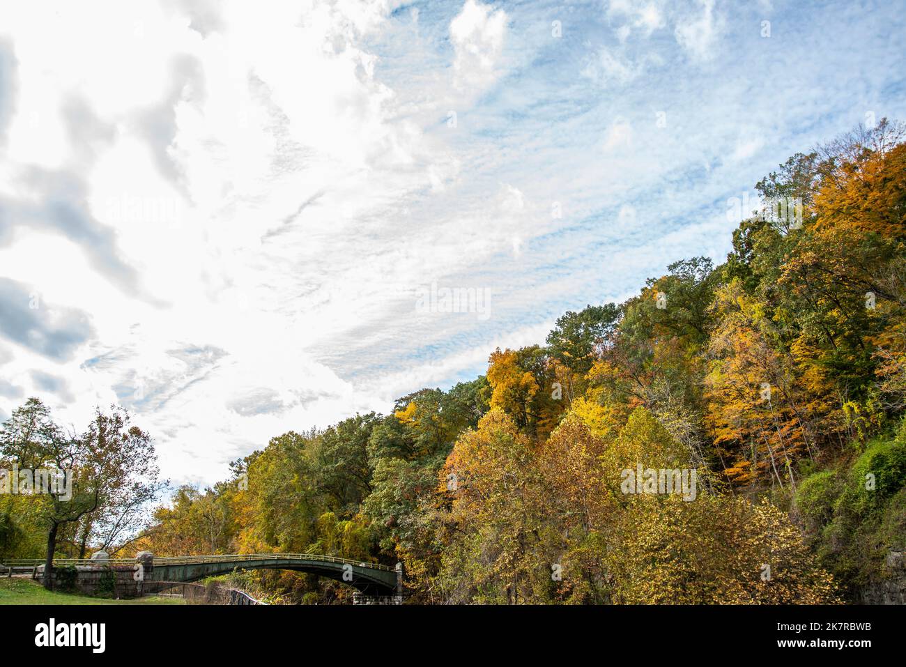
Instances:
[[[745,219],[723,264],[566,313],[449,391],[277,435],[179,488],[129,548],[401,561],[431,604],[863,600],[906,551],[902,128],[796,153],[757,190],[795,205]],[[627,492],[637,469],[697,487]],[[351,596],[255,576],[286,600]]]

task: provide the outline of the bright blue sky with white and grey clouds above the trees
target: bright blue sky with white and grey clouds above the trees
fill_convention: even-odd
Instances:
[[[906,120],[902,10],[3,3],[0,420],[120,404],[204,485],[471,380],[722,262],[795,152]]]

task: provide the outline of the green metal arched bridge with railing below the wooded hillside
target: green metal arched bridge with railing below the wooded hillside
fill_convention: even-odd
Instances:
[[[396,568],[377,563],[320,554],[216,554],[213,556],[168,556],[145,558],[76,559],[54,558],[53,568],[74,566],[80,573],[102,567],[131,570],[136,581],[191,582],[234,570],[294,570],[325,576],[351,585],[365,595],[401,595],[402,565]],[[7,575],[43,573],[43,560],[7,560],[0,573]]]

